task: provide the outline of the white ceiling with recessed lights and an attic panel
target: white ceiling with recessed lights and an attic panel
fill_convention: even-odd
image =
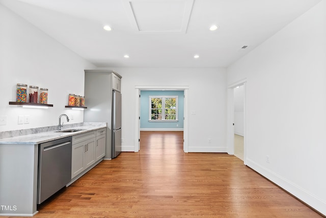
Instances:
[[[320,1],[0,0],[0,3],[99,67],[226,67]],[[209,31],[213,24],[219,25],[219,30]],[[113,30],[104,31],[104,25]],[[248,45],[247,49],[241,49],[243,45]],[[126,54],[130,58],[124,58]],[[196,54],[200,57],[194,59]]]

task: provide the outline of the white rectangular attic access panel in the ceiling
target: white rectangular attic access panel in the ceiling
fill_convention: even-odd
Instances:
[[[194,0],[125,0],[124,3],[137,32],[186,33]]]

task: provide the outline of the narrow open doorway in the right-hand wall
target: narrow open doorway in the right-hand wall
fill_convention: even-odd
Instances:
[[[246,79],[228,86],[228,154],[246,165]]]

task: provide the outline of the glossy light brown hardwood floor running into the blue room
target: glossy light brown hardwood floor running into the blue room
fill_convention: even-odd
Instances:
[[[182,132],[142,132],[35,217],[321,217],[233,155],[183,153]]]

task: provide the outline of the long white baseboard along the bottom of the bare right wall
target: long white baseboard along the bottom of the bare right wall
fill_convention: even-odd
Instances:
[[[282,187],[289,193],[291,193],[296,198],[300,199],[307,205],[311,206],[315,210],[319,211],[323,215],[326,215],[326,202],[318,197],[312,195],[309,191],[297,186],[291,181],[281,177],[280,175],[270,171],[269,169],[263,167],[262,165],[252,161],[247,158],[247,165],[251,167],[254,171],[266,177],[270,181],[274,182],[278,186]]]

